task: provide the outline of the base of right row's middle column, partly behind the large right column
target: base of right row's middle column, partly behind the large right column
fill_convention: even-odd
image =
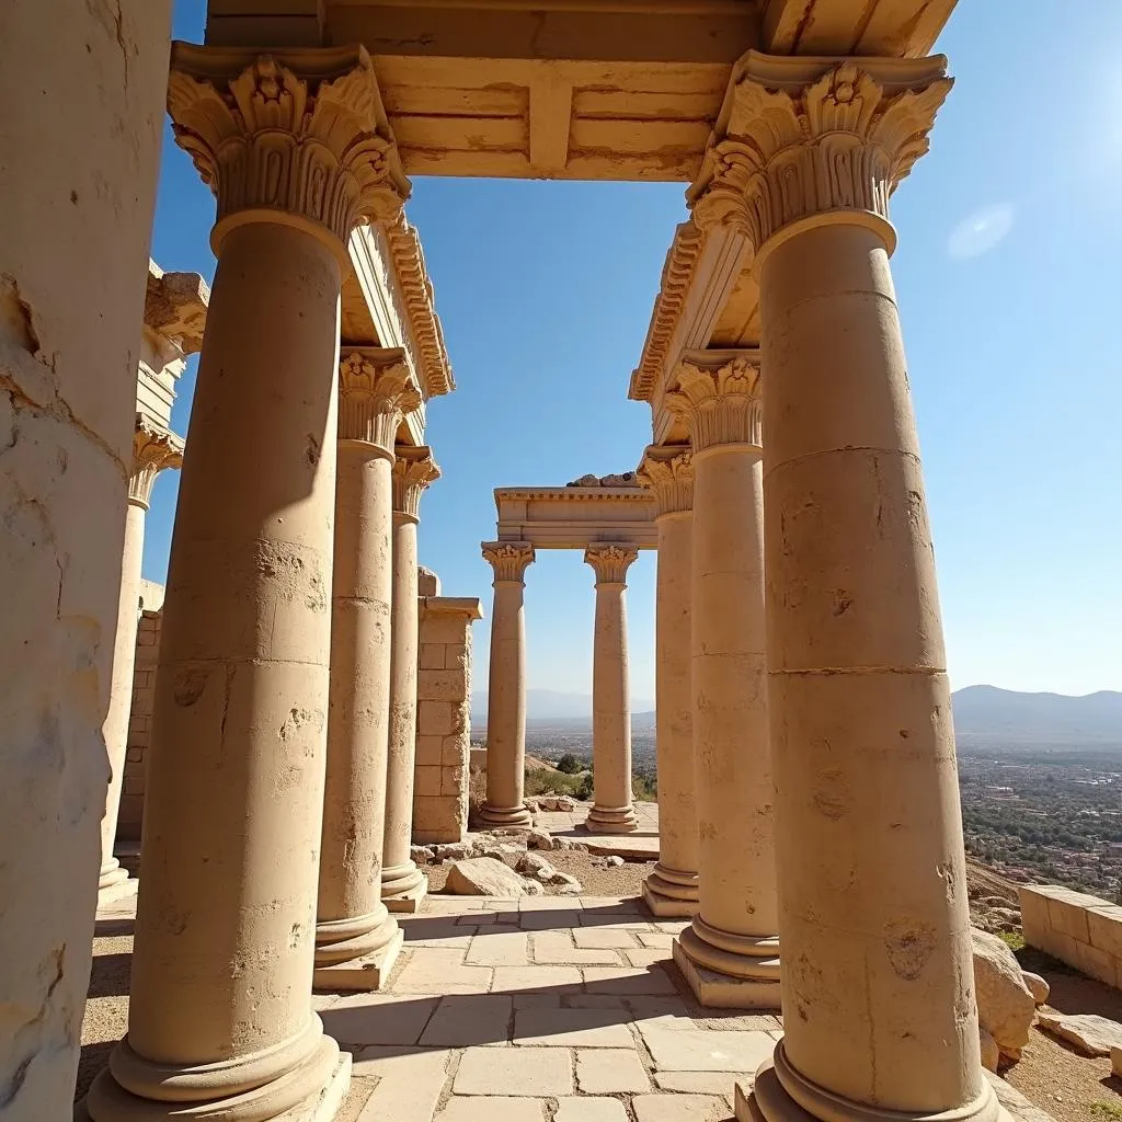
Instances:
[[[723,946],[702,938],[706,931]],[[725,949],[738,946],[739,953]],[[754,951],[754,953],[752,953]],[[717,931],[700,916],[673,942],[674,963],[698,1003],[710,1009],[780,1009],[779,940]],[[771,957],[764,957],[770,955]]]

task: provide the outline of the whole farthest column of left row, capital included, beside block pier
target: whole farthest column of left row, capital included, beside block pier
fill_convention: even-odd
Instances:
[[[440,478],[427,448],[398,447],[394,461],[394,592],[389,655],[389,764],[381,899],[390,911],[416,911],[429,880],[410,856],[417,732],[417,509]]]

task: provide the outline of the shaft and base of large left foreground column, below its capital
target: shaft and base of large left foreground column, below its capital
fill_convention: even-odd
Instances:
[[[335,252],[301,230],[222,242],[164,609],[129,1036],[114,1093],[91,1092],[99,1120],[120,1096],[157,1101],[129,1118],[255,1092],[279,1113],[338,1057],[309,993],[339,289]],[[273,1116],[240,1110],[215,1116]]]

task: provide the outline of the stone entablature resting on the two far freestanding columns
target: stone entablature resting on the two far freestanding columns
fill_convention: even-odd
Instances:
[[[641,550],[657,544],[654,498],[627,487],[497,487],[500,542],[525,542],[543,550],[586,549],[617,542]]]

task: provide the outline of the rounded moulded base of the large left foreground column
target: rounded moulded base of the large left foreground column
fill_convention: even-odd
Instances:
[[[184,1083],[181,1095],[190,1094],[203,1082],[221,1095],[223,1083],[237,1082],[229,1064],[199,1069],[149,1066],[132,1052],[126,1037],[110,1058],[110,1066],[93,1080],[82,1104],[92,1122],[332,1122],[350,1088],[351,1055],[340,1052],[331,1037],[321,1034],[312,1055],[278,1078],[236,1095],[193,1101],[131,1094],[114,1078],[114,1066],[126,1077],[155,1076],[153,1089],[160,1089],[159,1076],[171,1073],[173,1079]]]

